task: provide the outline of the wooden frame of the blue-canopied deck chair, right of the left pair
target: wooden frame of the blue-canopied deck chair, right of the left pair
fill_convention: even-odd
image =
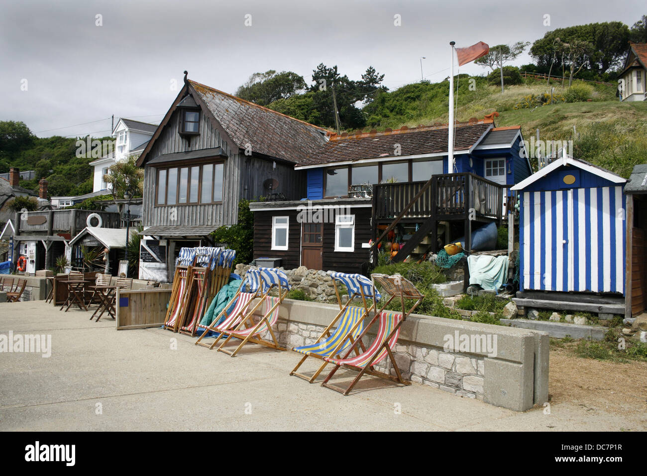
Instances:
[[[276,273],[279,277],[278,282],[267,282],[267,291],[265,291],[263,299],[259,301],[257,306],[255,306],[254,310],[258,308],[258,305],[261,304],[262,302],[267,303],[267,307],[265,310],[265,314],[259,319],[258,323],[254,323],[254,311],[248,312],[243,319],[241,319],[241,322],[234,328],[233,330],[230,331],[224,331],[221,332],[221,335],[218,337],[218,340],[223,334],[227,334],[227,338],[223,343],[218,347],[219,352],[225,352],[225,354],[228,354],[228,356],[231,357],[236,357],[236,354],[243,348],[245,344],[248,342],[258,344],[258,345],[263,345],[265,347],[270,347],[274,348],[276,350],[287,350],[285,347],[281,347],[278,343],[278,340],[276,339],[276,335],[274,335],[274,332],[272,331],[272,326],[270,325],[270,321],[268,321],[268,317],[272,315],[275,311],[278,312],[278,307],[281,305],[285,297],[287,297],[287,293],[290,291],[290,286],[287,284],[287,277],[285,277],[285,286],[281,284],[281,279],[280,275],[285,276],[285,274],[282,271],[279,271],[278,269],[275,268],[259,268],[259,271],[261,271],[261,278],[265,279],[263,277],[263,271],[265,270],[271,270],[274,273]],[[272,302],[270,298],[270,291],[274,288],[278,288],[278,298],[276,298],[276,302],[272,303],[272,307],[269,308],[269,304]],[[269,308],[269,309],[267,309]],[[250,323],[250,327],[243,327],[246,323]],[[270,333],[270,336],[272,337],[272,342],[270,341],[265,341],[264,339],[261,339],[260,337],[254,337],[255,335],[258,334],[258,330],[261,328],[261,326],[265,323],[267,325],[267,330]],[[251,325],[254,327],[252,328]],[[241,334],[241,331],[248,331],[246,334]],[[237,339],[241,339],[241,343],[236,347],[234,351],[227,350],[224,348],[227,343],[232,339],[232,337],[236,337]]]

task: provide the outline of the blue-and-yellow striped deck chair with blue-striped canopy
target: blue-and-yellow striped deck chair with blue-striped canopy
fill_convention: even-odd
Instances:
[[[375,286],[373,286],[373,282],[365,276],[334,273],[332,271],[328,271],[328,274],[333,278],[334,293],[337,297],[340,311],[313,344],[292,349],[294,352],[303,354],[303,357],[296,367],[292,369],[290,375],[296,375],[310,383],[313,383],[325,366],[328,365],[324,357],[342,358],[342,355],[362,333],[364,318],[368,317],[371,310],[375,308],[375,299],[380,299],[381,297],[380,293],[375,289]],[[348,290],[348,300],[344,306],[342,306],[337,282],[344,284]],[[373,299],[374,297],[375,299]],[[355,299],[360,299],[360,306],[351,306]],[[334,331],[332,331],[333,326],[336,326]],[[298,368],[301,367],[308,357],[323,361],[321,367],[311,377],[297,372]]]

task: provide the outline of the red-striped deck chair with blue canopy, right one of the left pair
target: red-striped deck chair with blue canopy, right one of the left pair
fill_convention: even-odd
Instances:
[[[249,312],[245,317],[243,317],[243,319],[241,319],[241,322],[235,328],[231,330],[223,330],[223,332],[221,332],[221,335],[227,335],[227,338],[218,347],[218,350],[220,352],[225,352],[225,354],[228,354],[231,357],[236,357],[236,354],[248,342],[274,348],[276,350],[286,350],[285,347],[281,347],[276,340],[276,336],[272,331],[272,326],[276,324],[279,317],[279,306],[290,290],[287,275],[275,267],[259,267],[258,271],[261,273],[261,280],[263,282],[263,287],[265,288],[264,297],[260,300],[260,302],[264,302],[265,304],[263,315],[259,319],[258,323],[255,323],[254,312]],[[269,295],[270,291],[273,289],[277,290],[277,297]],[[272,341],[261,339],[260,335],[264,332],[269,332]],[[225,348],[232,337],[241,339],[241,343],[233,352]]]

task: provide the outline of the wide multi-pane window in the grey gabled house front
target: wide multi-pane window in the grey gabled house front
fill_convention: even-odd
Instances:
[[[225,164],[200,164],[157,170],[157,205],[223,201]]]

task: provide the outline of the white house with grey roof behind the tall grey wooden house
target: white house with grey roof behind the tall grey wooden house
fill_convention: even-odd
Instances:
[[[112,133],[115,138],[115,150],[90,163],[94,167],[93,192],[109,190],[110,185],[104,181],[108,168],[118,161],[125,160],[129,155],[139,155],[144,152],[146,144],[153,137],[156,129],[157,125],[148,124],[148,122],[119,119]]]

